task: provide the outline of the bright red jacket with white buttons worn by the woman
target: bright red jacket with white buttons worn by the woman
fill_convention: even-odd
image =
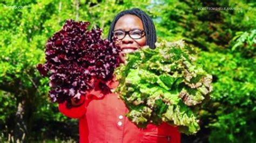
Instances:
[[[117,87],[118,82],[109,83],[109,87]],[[64,102],[59,104],[59,111],[70,118],[79,118],[79,137],[85,142],[137,143],[137,142],[180,142],[177,127],[167,125],[147,125],[140,129],[125,117],[128,112],[124,102],[117,94],[102,96],[99,91],[87,93],[93,97],[90,104],[83,103],[79,107],[67,109]],[[81,101],[84,96],[81,96]]]

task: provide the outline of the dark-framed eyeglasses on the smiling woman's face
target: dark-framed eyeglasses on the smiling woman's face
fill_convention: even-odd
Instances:
[[[118,40],[122,40],[125,38],[126,34],[128,34],[132,39],[140,39],[145,35],[144,30],[133,29],[130,31],[116,30],[113,31],[113,36],[117,37]]]

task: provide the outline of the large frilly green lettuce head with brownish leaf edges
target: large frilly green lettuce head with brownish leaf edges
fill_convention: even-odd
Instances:
[[[185,134],[200,129],[196,109],[210,99],[212,76],[196,65],[192,52],[182,40],[163,41],[126,56],[115,74],[127,118],[141,128],[165,121]]]

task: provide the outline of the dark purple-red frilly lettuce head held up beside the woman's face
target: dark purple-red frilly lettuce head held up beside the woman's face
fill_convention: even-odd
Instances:
[[[103,94],[111,92],[106,82],[112,80],[114,68],[119,66],[120,47],[101,39],[102,29],[88,31],[89,25],[66,20],[62,30],[46,43],[46,62],[37,69],[50,78],[52,102],[70,103],[70,98],[79,99],[93,88]]]

